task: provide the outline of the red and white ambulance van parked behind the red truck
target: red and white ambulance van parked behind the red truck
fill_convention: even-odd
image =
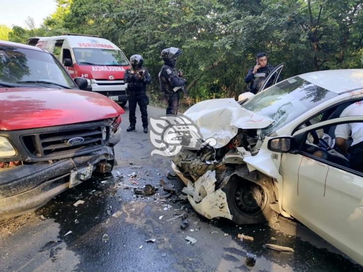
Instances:
[[[123,80],[129,61],[120,48],[97,36],[66,34],[29,38],[28,45],[54,54],[69,75],[88,80],[88,91],[97,92],[124,106],[127,83]]]

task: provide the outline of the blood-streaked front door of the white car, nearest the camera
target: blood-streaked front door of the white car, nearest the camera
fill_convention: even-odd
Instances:
[[[357,122],[363,122],[363,116],[320,122],[297,131],[294,139],[302,147],[310,131]],[[303,148],[283,154],[282,207],[363,264],[363,173],[314,154]]]

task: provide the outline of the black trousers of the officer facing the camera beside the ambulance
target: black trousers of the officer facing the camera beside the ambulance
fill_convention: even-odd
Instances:
[[[139,104],[140,111],[141,111],[141,120],[142,126],[147,127],[147,104],[149,102],[148,97],[146,96],[145,92],[130,92],[128,94],[128,109],[129,109],[129,116],[128,119],[130,121],[130,126],[134,126],[136,124],[136,106]]]

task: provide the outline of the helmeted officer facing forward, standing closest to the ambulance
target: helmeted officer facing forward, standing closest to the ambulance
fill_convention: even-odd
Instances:
[[[128,83],[127,91],[130,121],[130,126],[126,129],[126,131],[135,130],[135,110],[136,105],[138,104],[141,111],[141,120],[144,133],[147,133],[147,105],[149,104],[149,99],[146,95],[146,85],[150,84],[151,77],[147,69],[142,67],[143,61],[144,60],[141,55],[132,55],[130,57],[131,68],[127,69],[124,75],[124,80],[126,83]]]

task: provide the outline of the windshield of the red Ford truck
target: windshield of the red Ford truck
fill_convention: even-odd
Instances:
[[[77,88],[51,54],[0,46],[0,87],[25,87],[34,84]]]

